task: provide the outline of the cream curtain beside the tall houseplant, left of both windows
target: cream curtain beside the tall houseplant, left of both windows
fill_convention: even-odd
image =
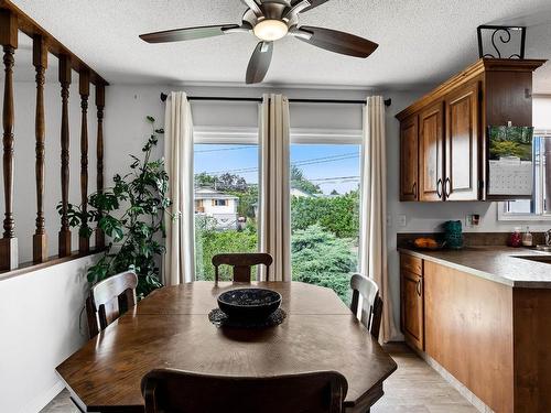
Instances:
[[[195,280],[193,122],[190,102],[183,91],[173,91],[166,99],[164,162],[172,200],[169,210],[177,218],[165,218],[163,280],[165,285],[176,285]]]

